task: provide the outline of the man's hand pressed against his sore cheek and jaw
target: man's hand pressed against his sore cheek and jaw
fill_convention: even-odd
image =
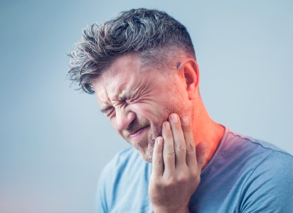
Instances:
[[[149,197],[154,212],[189,212],[188,203],[201,180],[206,143],[195,146],[187,116],[171,114],[156,138]]]

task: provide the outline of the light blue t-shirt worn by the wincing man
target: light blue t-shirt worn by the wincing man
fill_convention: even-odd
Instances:
[[[153,212],[151,163],[134,148],[102,171],[97,212]],[[181,196],[181,195],[178,195]],[[293,212],[293,156],[276,146],[225,129],[189,202],[190,212]]]

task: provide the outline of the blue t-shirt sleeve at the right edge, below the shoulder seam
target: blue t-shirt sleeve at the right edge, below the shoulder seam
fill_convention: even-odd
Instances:
[[[293,212],[293,157],[273,151],[243,186],[240,212]]]

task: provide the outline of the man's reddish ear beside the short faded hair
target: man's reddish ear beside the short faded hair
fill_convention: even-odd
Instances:
[[[181,77],[186,83],[186,92],[189,99],[195,99],[199,94],[199,69],[196,60],[190,59],[181,62],[179,66]]]

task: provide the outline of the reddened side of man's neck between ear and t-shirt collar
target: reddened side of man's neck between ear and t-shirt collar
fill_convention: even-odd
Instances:
[[[208,144],[206,148],[206,160],[203,163],[203,168],[210,162],[218,145],[225,133],[225,127],[215,123],[208,115],[206,107],[204,107],[201,97],[193,102],[193,138],[196,145],[201,142]]]

